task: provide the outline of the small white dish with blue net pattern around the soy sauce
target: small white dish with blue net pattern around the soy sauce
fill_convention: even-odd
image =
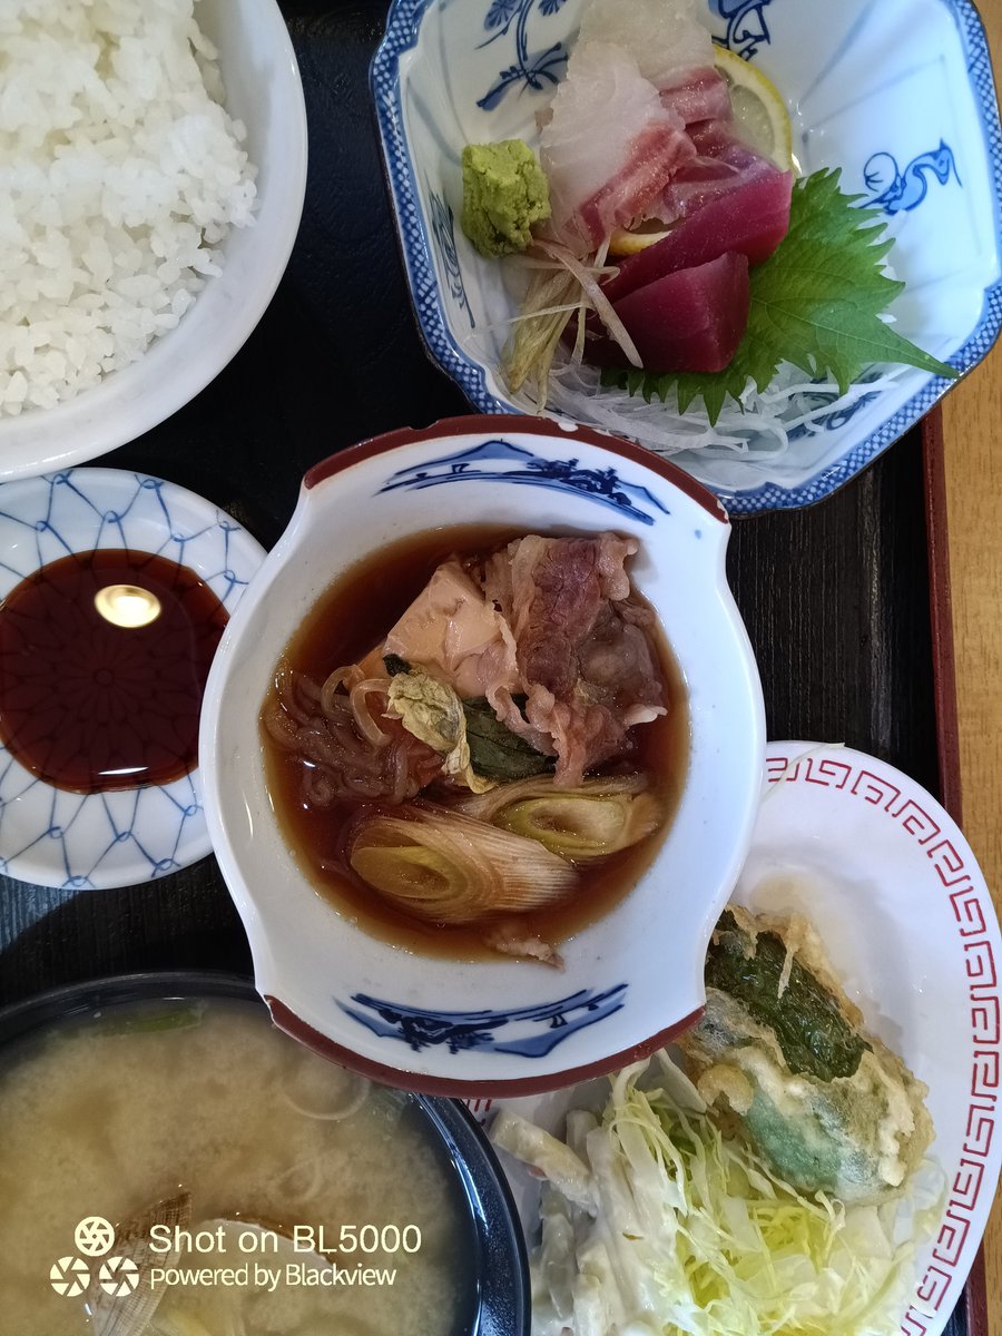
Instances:
[[[65,469],[0,485],[0,600],[43,566],[102,548],[186,566],[227,613],[265,558],[261,544],[224,510],[163,478]],[[71,649],[67,688],[80,671],[92,668],[81,669]],[[119,693],[128,701],[144,687],[131,667],[116,681],[118,671],[108,671],[102,688],[112,709]],[[40,779],[0,745],[0,872],[7,876],[65,890],[131,886],[210,852],[198,768],[171,783],[83,794]]]

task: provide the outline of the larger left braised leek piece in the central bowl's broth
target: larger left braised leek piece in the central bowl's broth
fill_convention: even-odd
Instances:
[[[373,812],[357,823],[349,862],[402,912],[461,926],[553,904],[574,868],[536,840],[430,803],[402,815]]]

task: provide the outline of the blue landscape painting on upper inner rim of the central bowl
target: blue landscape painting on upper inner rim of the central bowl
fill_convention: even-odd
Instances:
[[[621,514],[628,514],[641,524],[653,524],[655,517],[641,508],[653,506],[661,514],[669,510],[645,486],[624,482],[616,469],[582,469],[577,460],[546,460],[524,450],[518,445],[502,441],[500,437],[474,445],[457,454],[445,454],[432,464],[398,469],[379,492],[395,492],[403,488],[421,492],[446,482],[473,482],[489,478],[492,482],[512,482],[518,486],[550,488],[554,492],[568,492],[588,496],[599,505],[611,506]]]

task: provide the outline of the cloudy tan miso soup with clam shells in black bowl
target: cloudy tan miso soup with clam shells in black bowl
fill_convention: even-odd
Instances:
[[[0,1129],[1,1336],[472,1328],[470,1206],[428,1114],[258,1006],[115,1006],[23,1041]]]

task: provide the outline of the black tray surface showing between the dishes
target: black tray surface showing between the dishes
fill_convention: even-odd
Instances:
[[[306,469],[353,441],[469,411],[426,358],[369,96],[385,0],[285,0],[310,124],[299,236],[230,366],[102,466],[210,498],[270,548]],[[844,741],[938,787],[922,450],[912,432],[806,510],[733,524],[728,572],[759,660],[768,736]],[[212,858],[107,891],[0,878],[0,1006],[138,970],[248,974]],[[966,1328],[962,1305],[947,1329]]]

